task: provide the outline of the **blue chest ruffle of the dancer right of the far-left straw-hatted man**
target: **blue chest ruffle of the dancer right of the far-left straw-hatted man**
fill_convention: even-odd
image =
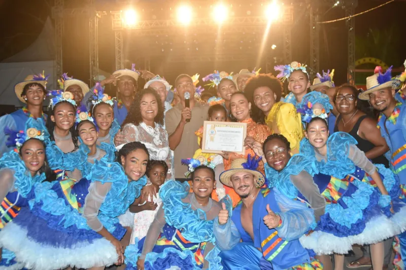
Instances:
[[[70,153],[64,153],[56,146],[54,141],[49,141],[46,147],[48,164],[52,170],[82,170],[84,163],[87,162],[89,152],[89,147],[83,143],[79,146],[77,151]]]

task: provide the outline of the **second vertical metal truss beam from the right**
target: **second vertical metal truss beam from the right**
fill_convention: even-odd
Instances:
[[[314,1],[308,7],[310,15],[310,80],[313,80],[320,66],[320,26],[318,6]]]

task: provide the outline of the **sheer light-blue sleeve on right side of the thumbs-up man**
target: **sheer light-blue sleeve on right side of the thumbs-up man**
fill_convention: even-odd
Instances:
[[[278,214],[281,217],[282,225],[275,228],[280,238],[292,241],[300,238],[309,229],[316,227],[313,209],[301,202],[290,200],[276,189],[274,191],[275,200],[281,209]]]

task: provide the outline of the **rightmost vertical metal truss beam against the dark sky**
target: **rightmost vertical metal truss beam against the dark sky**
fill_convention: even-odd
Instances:
[[[354,15],[354,9],[357,6],[357,0],[346,3],[346,17]],[[355,19],[350,18],[346,21],[348,31],[348,73],[347,81],[355,85]]]

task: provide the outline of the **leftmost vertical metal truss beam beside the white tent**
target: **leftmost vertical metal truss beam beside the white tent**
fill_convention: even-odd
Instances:
[[[55,0],[52,16],[55,20],[55,75],[62,75],[63,0]]]

